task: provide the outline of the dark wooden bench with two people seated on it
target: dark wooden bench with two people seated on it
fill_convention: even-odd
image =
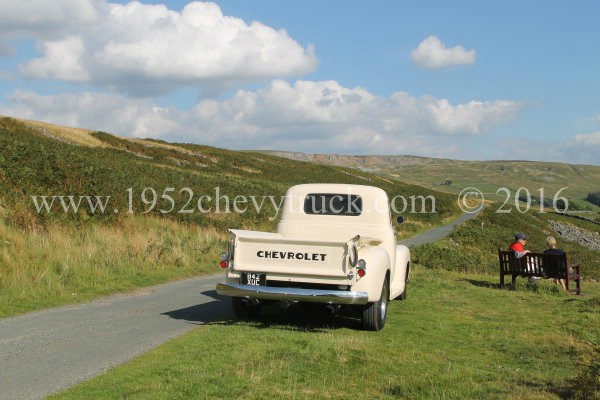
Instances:
[[[500,263],[500,286],[504,287],[504,276],[512,276],[512,285],[515,286],[517,276],[564,279],[568,293],[580,294],[581,283],[579,264],[569,265],[567,254],[527,253],[520,259],[512,250],[498,249]],[[575,283],[575,289],[569,289]]]

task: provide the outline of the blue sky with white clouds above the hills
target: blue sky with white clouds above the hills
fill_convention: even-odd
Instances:
[[[600,165],[600,2],[0,0],[0,114],[229,149]]]

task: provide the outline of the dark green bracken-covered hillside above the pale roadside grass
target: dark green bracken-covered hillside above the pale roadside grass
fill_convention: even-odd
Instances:
[[[139,214],[151,209],[148,213],[219,228],[273,227],[275,205],[285,190],[309,182],[376,185],[386,190],[390,198],[433,195],[437,212],[414,213],[409,226],[430,226],[458,212],[453,196],[350,168],[193,144],[125,139],[10,118],[0,119],[0,157],[0,198],[13,210],[8,218],[17,225],[47,220],[114,220],[122,218],[127,213],[124,210]],[[144,192],[146,188],[149,189]],[[39,213],[31,196],[42,195],[72,195],[76,199],[111,196],[110,210],[93,215]],[[165,195],[172,197],[174,204]],[[210,196],[213,201],[203,196]],[[238,196],[254,196],[258,200],[271,196],[276,202],[268,199],[261,212],[248,207],[246,212],[237,213],[233,201]],[[220,207],[216,197],[223,198]],[[199,205],[201,199],[204,203]],[[211,205],[211,212],[203,212]]]

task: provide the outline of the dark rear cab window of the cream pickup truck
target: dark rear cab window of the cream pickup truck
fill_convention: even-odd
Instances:
[[[304,198],[304,213],[358,216],[362,213],[362,198],[354,194],[310,193]]]

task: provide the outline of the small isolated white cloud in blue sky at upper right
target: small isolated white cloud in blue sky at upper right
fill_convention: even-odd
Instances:
[[[427,69],[439,69],[453,65],[474,64],[477,52],[466,50],[463,46],[446,48],[436,36],[429,36],[411,51],[415,64]]]

